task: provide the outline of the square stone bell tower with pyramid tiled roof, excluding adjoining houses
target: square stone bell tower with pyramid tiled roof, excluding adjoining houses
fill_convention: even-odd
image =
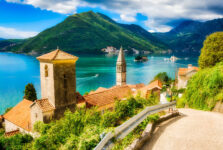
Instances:
[[[76,105],[76,61],[78,57],[58,48],[37,57],[40,61],[42,99],[48,99],[55,108],[54,117],[60,118]]]

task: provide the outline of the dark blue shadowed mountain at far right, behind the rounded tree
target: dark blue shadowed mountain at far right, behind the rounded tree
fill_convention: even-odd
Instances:
[[[172,50],[179,52],[199,52],[206,36],[223,31],[223,18],[206,22],[184,21],[167,33],[154,33],[159,40]]]

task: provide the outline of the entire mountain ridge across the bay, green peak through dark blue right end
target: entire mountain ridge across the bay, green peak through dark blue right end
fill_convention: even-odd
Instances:
[[[223,31],[223,18],[186,20],[166,33],[150,33],[136,24],[121,24],[93,11],[68,16],[57,25],[25,40],[0,40],[1,51],[42,54],[59,46],[71,53],[102,53],[107,46],[152,53],[199,53],[206,36]]]

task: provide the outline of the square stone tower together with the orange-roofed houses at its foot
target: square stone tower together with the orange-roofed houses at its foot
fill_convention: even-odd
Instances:
[[[30,133],[36,121],[48,123],[63,116],[66,109],[74,111],[76,92],[76,61],[78,57],[59,49],[37,57],[40,61],[42,99],[22,100],[4,115],[7,133]]]

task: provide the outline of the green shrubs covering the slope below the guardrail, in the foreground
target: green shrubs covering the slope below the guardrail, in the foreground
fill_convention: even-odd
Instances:
[[[157,103],[156,96],[151,96],[149,99],[137,96],[129,97],[127,100],[117,100],[114,110],[106,110],[104,114],[95,108],[79,108],[74,113],[67,111],[60,120],[49,124],[37,122],[35,130],[40,136],[36,139],[20,134],[6,138],[0,131],[0,149],[93,149],[100,142],[102,133],[106,134],[146,106]],[[150,120],[154,120],[154,117],[147,119]]]

